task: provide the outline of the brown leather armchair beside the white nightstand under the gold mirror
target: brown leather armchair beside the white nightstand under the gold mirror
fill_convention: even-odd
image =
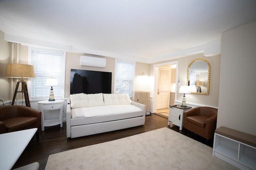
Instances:
[[[183,127],[209,140],[214,138],[218,109],[195,107],[184,112]]]

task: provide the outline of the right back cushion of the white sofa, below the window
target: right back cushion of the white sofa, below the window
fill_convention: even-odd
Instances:
[[[132,104],[128,94],[103,94],[105,106]]]

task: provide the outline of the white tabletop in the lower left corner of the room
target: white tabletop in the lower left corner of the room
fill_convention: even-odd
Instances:
[[[10,170],[18,160],[37,128],[0,134],[0,170]]]

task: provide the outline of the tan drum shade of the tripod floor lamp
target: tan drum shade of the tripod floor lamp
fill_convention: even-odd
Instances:
[[[35,78],[34,67],[28,64],[6,64],[5,76],[8,78]]]

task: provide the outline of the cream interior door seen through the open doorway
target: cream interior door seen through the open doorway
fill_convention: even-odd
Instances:
[[[166,109],[169,107],[169,94],[170,70],[166,68],[158,68],[158,92],[156,109]]]

